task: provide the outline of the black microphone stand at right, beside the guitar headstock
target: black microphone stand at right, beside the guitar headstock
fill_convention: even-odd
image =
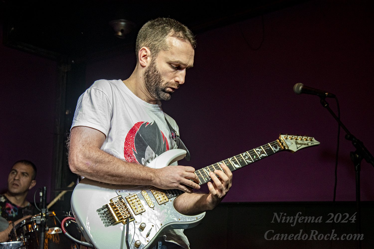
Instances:
[[[356,212],[357,212],[357,233],[361,234],[361,190],[360,190],[360,170],[361,170],[361,161],[365,159],[369,164],[373,165],[374,167],[374,158],[370,154],[370,152],[364,146],[362,141],[358,140],[352,133],[349,132],[347,127],[341,122],[341,120],[335,115],[335,113],[331,110],[328,103],[325,100],[326,96],[318,95],[320,97],[320,102],[324,108],[326,108],[331,115],[335,118],[335,120],[340,124],[340,127],[346,131],[346,140],[352,142],[353,146],[356,148],[355,152],[350,152],[350,159],[355,166],[356,171]],[[361,248],[361,240],[358,240],[359,248]]]

